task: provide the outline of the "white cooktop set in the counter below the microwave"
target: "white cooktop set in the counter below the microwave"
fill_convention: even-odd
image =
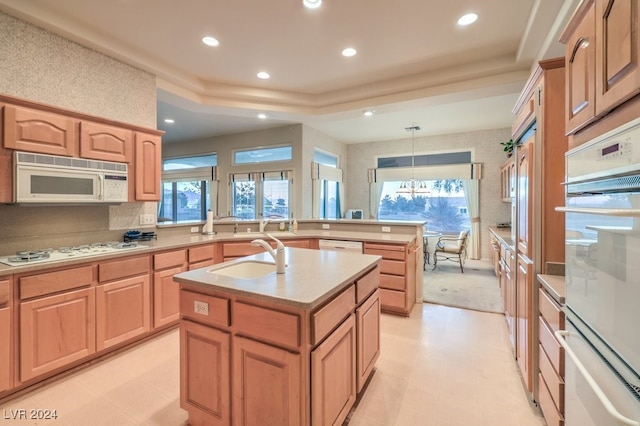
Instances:
[[[0,257],[0,263],[9,266],[21,266],[32,263],[54,262],[56,260],[65,260],[71,258],[82,258],[90,256],[99,256],[103,254],[114,253],[120,250],[130,250],[136,248],[144,248],[136,242],[96,242],[73,247],[60,247],[54,249],[39,249],[18,251],[13,256]]]

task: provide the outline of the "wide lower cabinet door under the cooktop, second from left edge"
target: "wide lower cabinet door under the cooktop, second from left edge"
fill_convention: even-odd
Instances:
[[[86,288],[20,304],[20,380],[95,352],[95,289]]]

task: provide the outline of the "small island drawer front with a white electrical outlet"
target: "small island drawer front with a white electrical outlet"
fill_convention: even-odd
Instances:
[[[181,290],[180,315],[200,323],[228,327],[229,300]]]

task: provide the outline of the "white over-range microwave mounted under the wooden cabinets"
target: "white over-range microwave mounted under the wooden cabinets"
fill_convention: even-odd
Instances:
[[[16,203],[123,203],[127,164],[16,152]]]

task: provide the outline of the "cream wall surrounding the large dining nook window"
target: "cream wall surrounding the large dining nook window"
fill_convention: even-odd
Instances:
[[[437,154],[441,152],[470,150],[473,162],[482,163],[480,181],[480,218],[482,234],[480,243],[482,258],[489,257],[487,228],[497,222],[511,220],[510,204],[500,198],[500,167],[507,160],[501,141],[509,140],[511,129],[483,130],[441,136],[415,138],[415,153]],[[390,140],[347,146],[347,208],[361,208],[369,216],[369,181],[367,170],[375,168],[378,157],[411,155],[411,139]]]

